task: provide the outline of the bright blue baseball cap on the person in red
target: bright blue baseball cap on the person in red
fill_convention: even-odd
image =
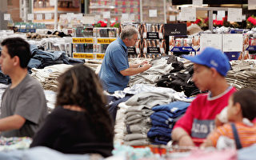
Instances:
[[[230,61],[226,57],[226,54],[212,47],[206,47],[205,50],[202,50],[202,52],[196,56],[183,55],[182,57],[198,65],[208,66],[210,68],[213,67],[224,77],[230,70]]]

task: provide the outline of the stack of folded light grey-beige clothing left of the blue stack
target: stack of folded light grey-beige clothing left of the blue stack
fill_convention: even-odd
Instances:
[[[174,100],[172,94],[142,92],[126,101],[124,144],[129,146],[149,145],[147,131],[150,130],[150,115],[153,106],[168,104]]]

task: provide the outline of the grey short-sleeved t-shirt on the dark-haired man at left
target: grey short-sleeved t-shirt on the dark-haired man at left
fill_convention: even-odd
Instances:
[[[2,94],[1,118],[18,114],[26,119],[25,124],[19,130],[2,131],[4,137],[33,137],[38,126],[47,115],[46,97],[41,84],[26,77],[10,89],[10,86]]]

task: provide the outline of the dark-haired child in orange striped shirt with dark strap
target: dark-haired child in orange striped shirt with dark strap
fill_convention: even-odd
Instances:
[[[239,90],[229,99],[226,108],[228,123],[218,126],[210,133],[206,142],[201,146],[217,148],[251,146],[256,143],[256,91],[250,89]]]

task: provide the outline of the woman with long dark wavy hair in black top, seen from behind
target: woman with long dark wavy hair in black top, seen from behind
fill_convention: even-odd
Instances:
[[[47,146],[65,154],[111,155],[114,128],[102,85],[93,70],[77,65],[58,78],[56,108],[30,147]]]

